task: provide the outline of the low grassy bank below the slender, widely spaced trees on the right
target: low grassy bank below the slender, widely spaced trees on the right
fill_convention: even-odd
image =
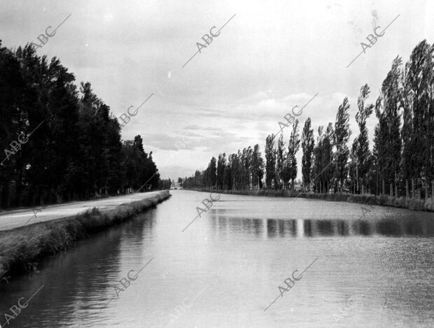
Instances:
[[[212,192],[216,194],[239,194],[244,196],[262,197],[300,197],[307,199],[320,199],[323,201],[346,201],[348,203],[391,206],[397,208],[407,208],[412,211],[434,212],[433,199],[406,199],[405,197],[391,197],[387,195],[375,196],[372,194],[314,194],[308,192],[296,192],[293,190],[210,190],[210,189],[185,189],[197,192]]]

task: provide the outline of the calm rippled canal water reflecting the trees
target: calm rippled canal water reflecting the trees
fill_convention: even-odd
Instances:
[[[1,283],[2,327],[434,327],[433,213],[171,193]]]

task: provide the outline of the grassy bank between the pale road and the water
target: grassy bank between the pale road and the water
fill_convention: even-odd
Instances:
[[[35,271],[45,257],[73,247],[76,241],[134,218],[169,199],[169,190],[153,197],[122,204],[113,210],[92,208],[67,218],[37,222],[26,227],[0,231],[0,282]]]

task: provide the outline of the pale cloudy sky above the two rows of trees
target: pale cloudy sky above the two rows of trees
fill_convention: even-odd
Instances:
[[[417,0],[0,0],[0,39],[12,49],[40,43],[64,21],[38,55],[59,57],[116,117],[148,99],[122,138],[140,134],[161,178],[177,180],[219,153],[258,143],[264,155],[282,117],[316,94],[297,117],[300,130],[310,117],[316,138],[348,97],[351,147],[360,87],[370,86],[374,103],[393,59],[405,63],[423,39],[434,42],[433,17],[434,1]],[[387,29],[363,52],[376,27]],[[374,113],[367,122],[372,148]],[[289,135],[288,127],[286,145]]]

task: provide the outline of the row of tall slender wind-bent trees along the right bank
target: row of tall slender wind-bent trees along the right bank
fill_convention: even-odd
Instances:
[[[246,190],[295,188],[296,154],[302,150],[302,186],[311,192],[390,194],[434,198],[434,45],[422,41],[408,62],[393,60],[379,97],[369,100],[370,87],[360,87],[355,120],[358,134],[349,146],[349,100],[337,108],[334,124],[318,127],[310,117],[302,131],[292,124],[288,145],[283,134],[265,140],[265,161],[259,146],[211,158],[205,171],[184,178],[183,187]],[[377,117],[372,151],[366,120]],[[279,123],[281,124],[281,123]],[[282,123],[283,124],[283,123]],[[300,136],[301,132],[301,136]],[[217,164],[216,164],[217,162]],[[262,177],[265,176],[265,185]]]

